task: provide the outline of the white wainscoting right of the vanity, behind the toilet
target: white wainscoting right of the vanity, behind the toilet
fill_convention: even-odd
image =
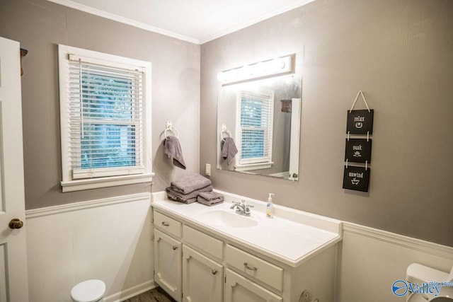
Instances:
[[[444,230],[447,231],[447,230]],[[453,248],[344,222],[338,267],[339,302],[402,302],[391,285],[413,262],[449,272]],[[446,280],[432,280],[446,281]]]

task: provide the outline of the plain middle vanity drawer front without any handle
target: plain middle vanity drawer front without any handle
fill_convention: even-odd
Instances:
[[[223,242],[217,240],[205,233],[190,228],[190,226],[183,226],[184,243],[193,245],[194,248],[207,252],[208,254],[223,259]]]

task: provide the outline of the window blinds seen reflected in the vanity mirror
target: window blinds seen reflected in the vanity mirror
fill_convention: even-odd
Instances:
[[[239,164],[270,162],[273,93],[241,91],[240,98]]]

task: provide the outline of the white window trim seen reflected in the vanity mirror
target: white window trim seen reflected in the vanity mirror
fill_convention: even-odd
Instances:
[[[262,95],[271,95],[271,105],[270,108],[274,108],[274,92],[270,91],[269,89],[265,88],[253,88],[253,89],[241,89],[236,95],[236,141],[239,142],[239,150],[238,150],[238,159],[236,160],[236,164],[234,165],[234,170],[236,171],[250,171],[250,170],[263,170],[263,169],[269,169],[272,168],[273,161],[272,161],[272,149],[273,149],[273,115],[274,112],[272,112],[272,115],[270,117],[270,129],[269,131],[269,140],[270,140],[270,151],[269,151],[269,157],[267,159],[257,159],[253,158],[251,161],[248,160],[243,160],[241,159],[241,153],[242,153],[242,137],[241,137],[241,95],[243,94],[243,91],[250,91],[252,93],[259,93]],[[272,109],[273,110],[273,109]]]

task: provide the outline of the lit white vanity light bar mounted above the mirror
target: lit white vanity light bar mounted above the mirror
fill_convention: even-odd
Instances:
[[[219,72],[217,79],[222,86],[245,81],[265,79],[271,76],[294,74],[295,54],[268,59],[254,64],[236,67]]]

